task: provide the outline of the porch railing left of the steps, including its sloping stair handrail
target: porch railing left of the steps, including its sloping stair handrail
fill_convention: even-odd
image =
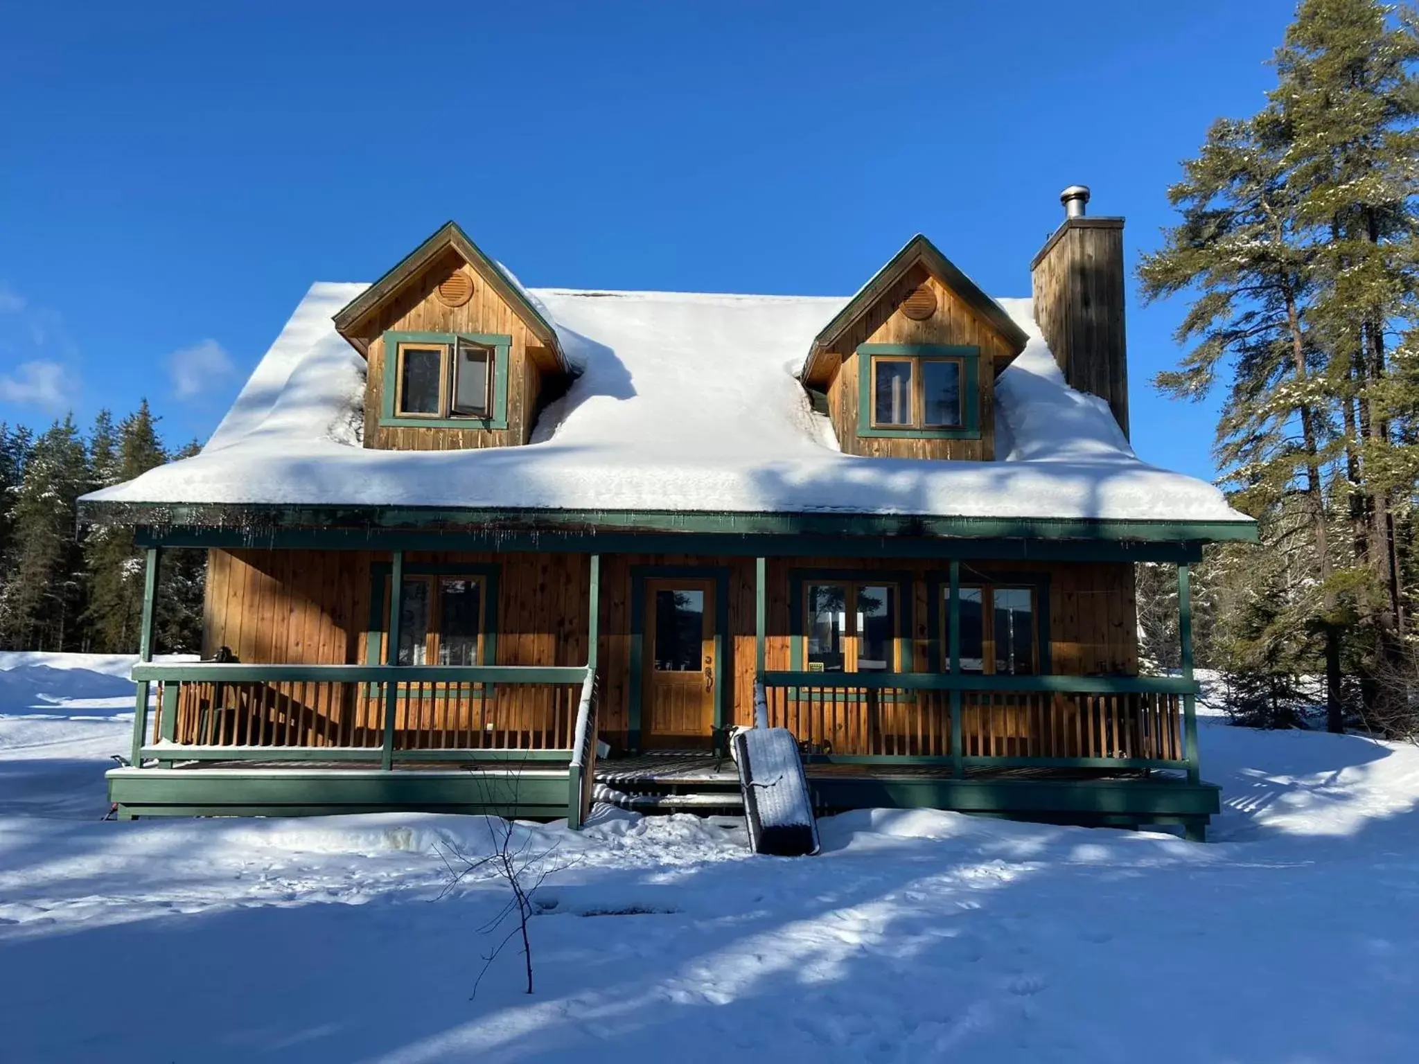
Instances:
[[[414,763],[555,769],[568,773],[569,821],[580,826],[589,809],[596,745],[590,665],[140,663],[132,675],[135,767],[343,762],[385,772]]]

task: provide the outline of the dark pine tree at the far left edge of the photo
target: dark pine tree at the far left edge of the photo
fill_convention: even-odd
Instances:
[[[82,556],[74,535],[75,499],[88,461],[74,419],[55,421],[24,462],[6,553],[10,580],[0,597],[0,627],[17,650],[67,650],[82,606]]]

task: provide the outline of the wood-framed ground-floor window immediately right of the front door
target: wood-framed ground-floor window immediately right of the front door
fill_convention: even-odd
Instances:
[[[805,671],[897,671],[897,599],[890,583],[805,580]]]

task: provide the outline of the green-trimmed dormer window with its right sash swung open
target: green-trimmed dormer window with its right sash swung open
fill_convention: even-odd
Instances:
[[[482,333],[385,333],[380,424],[507,428],[512,338]]]

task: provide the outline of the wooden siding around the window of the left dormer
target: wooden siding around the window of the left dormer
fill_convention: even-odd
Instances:
[[[458,270],[473,278],[473,298],[463,306],[444,305],[436,289]],[[379,308],[368,326],[369,382],[365,390],[365,445],[390,451],[455,451],[471,447],[515,447],[525,444],[536,421],[542,375],[551,369],[552,355],[539,346],[522,318],[457,253],[434,260],[409,285]],[[508,352],[508,427],[382,427],[385,359],[383,333],[397,332],[478,332],[512,338]],[[546,363],[539,365],[539,363]]]

